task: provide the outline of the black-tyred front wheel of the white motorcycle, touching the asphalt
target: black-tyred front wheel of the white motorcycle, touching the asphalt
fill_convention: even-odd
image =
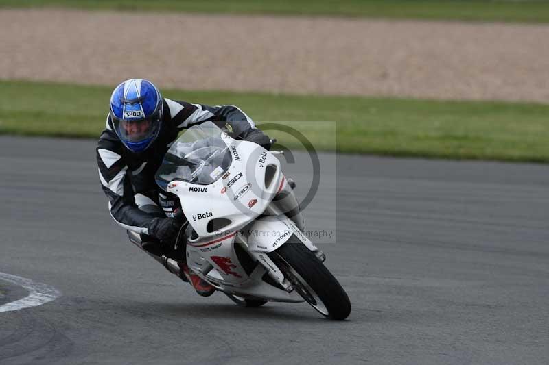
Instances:
[[[301,297],[320,314],[334,320],[344,320],[349,316],[351,302],[347,293],[299,238],[292,236],[268,255]]]

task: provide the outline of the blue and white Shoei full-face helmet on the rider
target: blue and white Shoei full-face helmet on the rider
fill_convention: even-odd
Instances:
[[[124,146],[130,151],[145,151],[159,136],[163,99],[152,82],[130,79],[110,96],[110,118]]]

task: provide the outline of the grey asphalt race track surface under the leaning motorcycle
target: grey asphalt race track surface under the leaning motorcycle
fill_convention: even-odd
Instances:
[[[0,273],[61,293],[0,312],[2,365],[549,362],[548,166],[320,155],[306,214],[337,229],[320,247],[353,312],[336,323],[198,297],[113,223],[94,149],[0,137]],[[25,295],[0,279],[0,305]]]

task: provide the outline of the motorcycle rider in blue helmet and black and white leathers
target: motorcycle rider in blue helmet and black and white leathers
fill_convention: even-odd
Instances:
[[[270,148],[266,134],[242,110],[233,105],[215,107],[163,98],[152,82],[129,79],[110,97],[106,129],[97,142],[97,164],[110,216],[129,231],[141,234],[141,247],[157,257],[178,261],[178,277],[190,281],[198,294],[215,288],[189,272],[185,255],[174,242],[185,220],[168,218],[161,207],[174,202],[163,194],[154,174],[178,133],[197,123],[212,121],[233,138]],[[160,206],[159,206],[160,205]],[[165,209],[168,210],[168,209]],[[185,238],[184,238],[185,239]]]

